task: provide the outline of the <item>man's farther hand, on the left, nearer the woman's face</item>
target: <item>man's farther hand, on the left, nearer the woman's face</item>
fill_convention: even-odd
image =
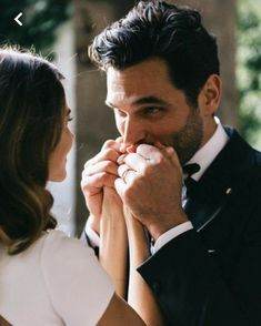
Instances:
[[[103,187],[113,187],[118,175],[117,160],[122,150],[121,137],[107,141],[101,151],[84,164],[81,189],[90,211],[91,227],[100,233],[100,217],[102,213]]]

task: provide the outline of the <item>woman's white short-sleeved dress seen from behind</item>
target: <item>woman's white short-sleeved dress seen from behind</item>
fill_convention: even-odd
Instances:
[[[94,326],[113,293],[93,251],[60,231],[18,255],[0,247],[0,315],[14,326]]]

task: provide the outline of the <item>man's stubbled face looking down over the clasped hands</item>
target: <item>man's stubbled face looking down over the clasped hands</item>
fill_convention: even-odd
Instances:
[[[127,144],[160,141],[185,163],[202,145],[204,118],[173,86],[162,60],[147,60],[122,71],[110,68],[107,104]]]

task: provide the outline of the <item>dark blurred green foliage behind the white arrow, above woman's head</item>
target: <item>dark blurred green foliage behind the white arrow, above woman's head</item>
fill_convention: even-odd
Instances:
[[[47,55],[56,41],[57,28],[71,16],[70,2],[71,0],[1,0],[0,43],[19,44]],[[22,12],[22,26],[13,20],[19,12]]]

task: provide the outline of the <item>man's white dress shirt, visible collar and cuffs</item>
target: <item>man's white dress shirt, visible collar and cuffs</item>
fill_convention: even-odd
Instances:
[[[211,136],[211,139],[187,162],[187,164],[191,163],[198,163],[200,165],[200,170],[194,173],[191,177],[195,181],[199,181],[200,177],[203,175],[205,170],[209,167],[209,165],[213,162],[215,156],[219,154],[219,152],[224,147],[227,142],[229,141],[229,136],[225,133],[222,124],[220,123],[220,120],[215,116],[214,118],[217,123],[217,129],[214,131],[214,134]],[[182,190],[182,193],[185,193]],[[182,196],[182,204],[185,203],[185,196]],[[178,235],[193,228],[193,225],[190,221],[184,222],[178,226],[174,226],[163,233],[159,238],[155,241],[154,245],[151,247],[152,254],[159,251],[163,245],[165,245],[168,242],[170,242],[172,238],[177,237]],[[89,226],[87,223],[86,225],[86,233],[89,237],[89,241],[91,245],[99,246],[100,244],[100,237],[99,235]]]

